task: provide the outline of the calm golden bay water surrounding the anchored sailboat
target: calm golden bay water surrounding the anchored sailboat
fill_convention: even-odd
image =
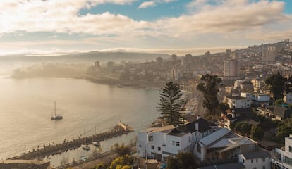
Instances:
[[[51,120],[54,101],[63,120]],[[0,77],[0,159],[43,144],[111,130],[120,120],[137,132],[159,116],[158,101],[155,89],[118,88],[66,78]],[[128,137],[135,133],[102,143],[102,148],[126,142]]]

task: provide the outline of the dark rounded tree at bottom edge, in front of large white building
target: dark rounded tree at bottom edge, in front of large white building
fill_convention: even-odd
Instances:
[[[196,166],[197,161],[193,154],[181,152],[167,158],[166,169],[195,169]]]

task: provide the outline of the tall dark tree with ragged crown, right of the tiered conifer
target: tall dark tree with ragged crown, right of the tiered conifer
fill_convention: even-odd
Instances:
[[[207,108],[209,113],[216,114],[216,108],[219,106],[217,94],[219,92],[218,84],[222,82],[217,75],[202,75],[201,80],[205,81],[197,85],[197,90],[204,94],[203,107]]]

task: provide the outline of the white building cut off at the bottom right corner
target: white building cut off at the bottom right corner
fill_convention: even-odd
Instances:
[[[277,168],[292,168],[292,135],[285,138],[285,149],[275,149],[271,159],[272,165]]]

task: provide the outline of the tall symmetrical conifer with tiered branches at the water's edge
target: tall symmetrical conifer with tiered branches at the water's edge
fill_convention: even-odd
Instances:
[[[183,93],[181,92],[181,85],[168,82],[164,84],[164,87],[160,89],[160,100],[157,110],[161,113],[160,119],[166,125],[181,125],[181,111],[184,111],[183,106],[185,105],[185,99],[182,98]]]

